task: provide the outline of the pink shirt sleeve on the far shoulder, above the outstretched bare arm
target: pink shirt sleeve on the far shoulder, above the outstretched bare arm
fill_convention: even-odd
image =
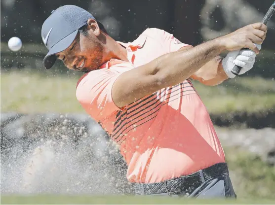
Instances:
[[[175,38],[173,34],[169,34],[164,30],[152,28],[147,29],[145,33],[155,39],[158,39],[167,52],[175,52],[182,47],[191,46],[189,44],[182,43],[177,38]]]

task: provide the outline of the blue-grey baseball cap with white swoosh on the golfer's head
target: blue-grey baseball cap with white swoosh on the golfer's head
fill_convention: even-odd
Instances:
[[[57,56],[56,53],[67,49],[75,40],[81,27],[88,19],[95,19],[92,14],[75,5],[64,5],[53,10],[42,26],[42,40],[49,50],[43,60],[46,69],[51,68]]]

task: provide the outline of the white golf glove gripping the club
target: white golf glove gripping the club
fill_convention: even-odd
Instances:
[[[259,50],[262,46],[255,44]],[[250,49],[241,49],[236,51],[231,51],[222,60],[223,68],[230,78],[235,78],[236,75],[231,72],[235,66],[241,67],[239,74],[243,74],[253,68],[256,61],[256,53]]]

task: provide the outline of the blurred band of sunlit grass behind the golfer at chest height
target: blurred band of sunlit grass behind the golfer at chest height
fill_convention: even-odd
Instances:
[[[82,112],[76,99],[79,73],[54,74],[32,69],[1,73],[1,111]],[[236,77],[210,87],[193,81],[210,113],[265,111],[275,107],[275,81]]]

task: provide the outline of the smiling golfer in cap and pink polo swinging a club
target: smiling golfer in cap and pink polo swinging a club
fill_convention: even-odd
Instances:
[[[85,72],[76,97],[120,145],[136,195],[236,198],[223,148],[191,79],[215,86],[235,77],[235,65],[247,72],[266,32],[256,23],[192,46],[151,28],[122,43],[89,12],[65,5],[43,23],[49,50],[43,65],[49,69],[59,59]]]

